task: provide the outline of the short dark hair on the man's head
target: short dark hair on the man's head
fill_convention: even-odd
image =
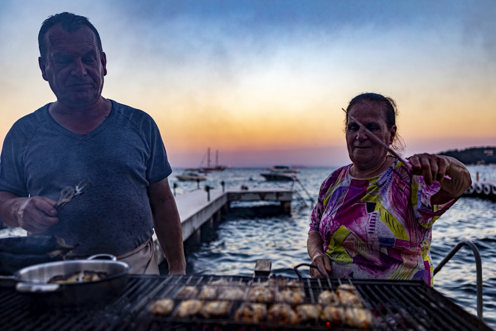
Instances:
[[[79,16],[70,12],[62,12],[59,14],[49,16],[41,24],[40,33],[38,33],[38,46],[40,48],[40,56],[42,58],[45,58],[47,52],[45,34],[47,33],[48,29],[50,29],[52,26],[57,24],[62,25],[62,28],[69,33],[75,32],[79,28],[86,25],[91,29],[91,31],[93,31],[93,33],[96,36],[98,42],[98,50],[100,51],[100,53],[103,52],[102,40],[100,39],[100,35],[98,34],[98,31],[93,26],[93,24],[90,23],[87,17]]]

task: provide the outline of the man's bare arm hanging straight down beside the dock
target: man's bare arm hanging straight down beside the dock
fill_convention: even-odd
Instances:
[[[169,274],[186,274],[183,228],[176,200],[166,178],[148,188],[155,233],[169,264]]]

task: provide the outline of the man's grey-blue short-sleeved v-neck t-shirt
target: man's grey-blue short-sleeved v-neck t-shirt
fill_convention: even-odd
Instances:
[[[87,134],[60,126],[48,104],[19,119],[0,156],[0,191],[58,200],[61,190],[83,179],[92,186],[58,213],[40,235],[79,243],[75,254],[128,252],[153,234],[147,188],[172,173],[153,119],[112,101],[105,121]]]

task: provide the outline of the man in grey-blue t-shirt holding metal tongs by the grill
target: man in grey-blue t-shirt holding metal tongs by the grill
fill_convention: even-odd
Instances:
[[[57,101],[18,120],[0,158],[0,219],[33,235],[79,244],[76,255],[113,254],[131,273],[158,274],[152,235],[170,274],[185,274],[172,173],[146,113],[102,97],[107,58],[86,17],[63,12],[38,36],[42,76]],[[63,208],[61,190],[92,185]]]

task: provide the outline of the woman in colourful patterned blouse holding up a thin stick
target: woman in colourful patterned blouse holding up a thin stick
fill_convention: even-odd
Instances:
[[[422,279],[433,285],[432,226],[470,186],[470,174],[447,156],[416,154],[410,166],[389,155],[369,135],[397,149],[396,115],[395,102],[380,94],[350,101],[345,123],[352,164],[320,187],[307,247],[311,264],[325,274],[310,268],[312,277]]]

